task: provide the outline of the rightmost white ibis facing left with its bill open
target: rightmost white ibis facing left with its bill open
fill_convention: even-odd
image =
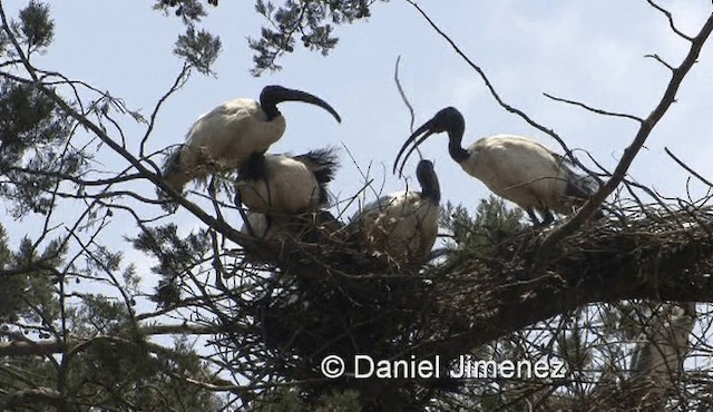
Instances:
[[[409,155],[429,136],[446,131],[450,157],[496,195],[522,207],[536,227],[555,220],[551,210],[572,214],[573,206],[584,204],[597,189],[592,177],[578,176],[568,167],[572,166],[569,161],[533,139],[496,135],[484,137],[465,149],[461,146],[465,129],[466,122],[460,111],[453,107],[440,110],[403,144],[393,164],[393,171],[409,145],[413,144],[399,170],[403,169]],[[535,210],[543,215],[541,223]]]

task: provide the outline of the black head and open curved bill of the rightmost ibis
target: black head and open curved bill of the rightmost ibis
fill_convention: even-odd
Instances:
[[[399,150],[399,155],[397,155],[397,159],[393,161],[393,173],[397,173],[399,158],[401,158],[401,155],[403,155],[403,151],[407,149],[407,147],[409,147],[409,145],[413,144],[413,146],[409,149],[409,151],[407,151],[406,156],[403,157],[401,167],[399,167],[399,175],[402,174],[403,166],[409,159],[409,156],[411,156],[413,150],[416,150],[419,145],[426,141],[429,136],[447,131],[450,144],[457,144],[458,147],[460,147],[460,141],[463,137],[465,129],[466,120],[463,120],[463,116],[460,114],[460,111],[458,111],[458,109],[456,109],[455,107],[447,107],[445,109],[441,109],[436,114],[436,116],[433,116],[432,119],[428,120],[418,129],[416,129],[416,131],[408,138],[408,140],[406,140],[403,146],[401,146],[401,150]]]

